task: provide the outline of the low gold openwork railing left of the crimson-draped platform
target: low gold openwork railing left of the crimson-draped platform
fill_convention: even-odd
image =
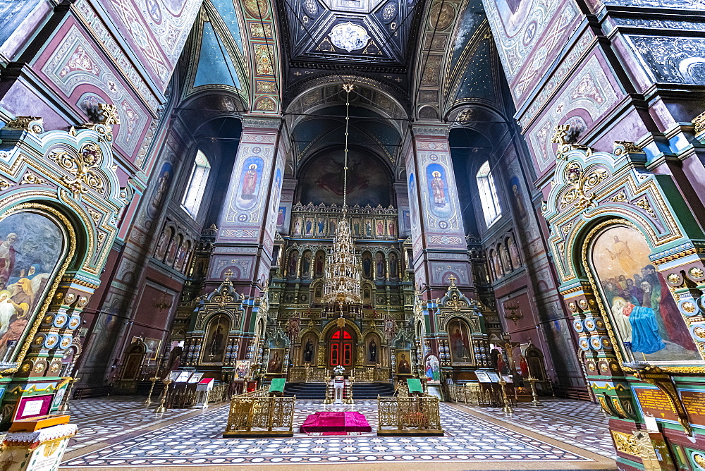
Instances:
[[[258,391],[252,391],[252,393]],[[295,397],[246,396],[245,394],[233,396],[223,438],[293,436],[295,401]]]

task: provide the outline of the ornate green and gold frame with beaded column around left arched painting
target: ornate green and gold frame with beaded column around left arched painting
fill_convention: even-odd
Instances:
[[[111,148],[111,126],[119,124],[116,107],[99,104],[97,111],[97,123],[68,132],[44,132],[42,118],[35,116],[18,116],[0,130],[1,219],[41,216],[59,228],[63,245],[47,273],[42,298],[37,297],[25,314],[16,346],[0,364],[3,375],[18,370],[23,377],[32,374],[32,379],[20,379],[22,388],[6,394],[5,407],[32,391],[27,381],[61,370],[82,309],[101,283],[101,270],[118,233],[118,214],[135,193],[131,181],[121,188],[116,175]],[[7,240],[7,235],[2,237]],[[59,326],[61,334],[55,328]]]

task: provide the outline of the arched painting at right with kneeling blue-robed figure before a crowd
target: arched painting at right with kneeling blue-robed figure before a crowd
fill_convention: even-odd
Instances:
[[[594,238],[590,264],[620,348],[629,360],[700,360],[641,233],[611,226]]]

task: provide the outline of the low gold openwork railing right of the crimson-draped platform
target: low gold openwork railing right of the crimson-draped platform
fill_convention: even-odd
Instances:
[[[443,435],[435,396],[379,398],[377,417],[378,435]]]

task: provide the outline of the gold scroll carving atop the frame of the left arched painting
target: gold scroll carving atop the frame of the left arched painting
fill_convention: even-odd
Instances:
[[[103,160],[103,153],[98,145],[87,142],[82,145],[78,155],[63,150],[51,152],[49,159],[71,174],[63,176],[61,180],[69,190],[73,191],[74,197],[82,195],[89,189],[101,195],[105,193],[105,185],[97,172]]]

